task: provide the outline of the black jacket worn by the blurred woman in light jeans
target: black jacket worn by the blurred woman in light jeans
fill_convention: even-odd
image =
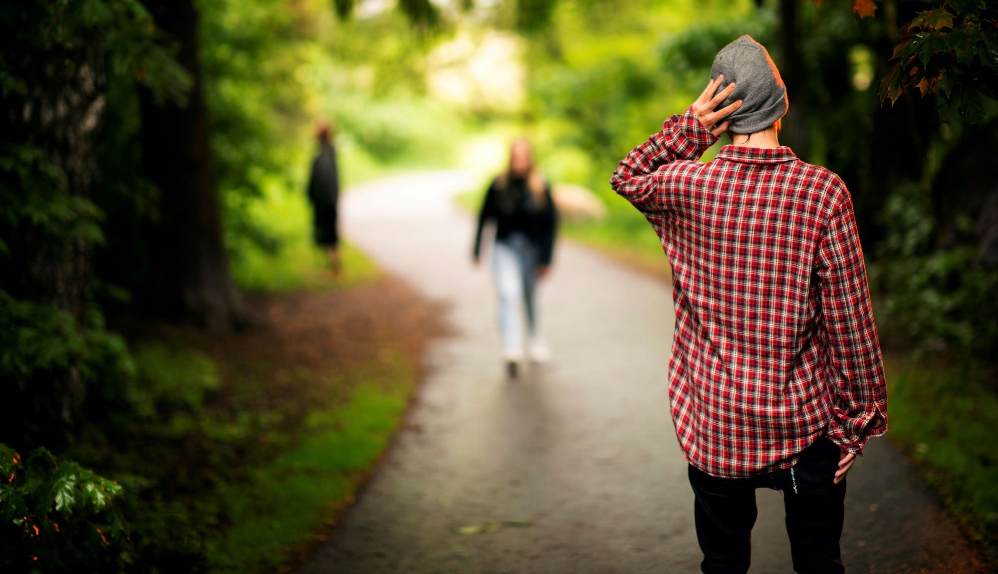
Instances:
[[[538,263],[551,264],[558,227],[558,212],[551,197],[551,186],[545,184],[544,205],[537,205],[525,179],[496,178],[489,186],[478,215],[475,233],[475,259],[482,244],[482,229],[486,223],[496,226],[496,241],[511,234],[522,233],[531,239],[537,249]]]

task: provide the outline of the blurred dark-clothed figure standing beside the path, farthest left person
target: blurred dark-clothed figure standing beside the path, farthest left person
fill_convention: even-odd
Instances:
[[[315,130],[319,152],[312,162],[308,181],[308,202],[314,215],[315,243],[329,254],[332,271],[339,274],[339,232],[337,230],[337,203],[339,201],[339,173],[336,171],[336,150],[332,147],[331,128],[320,122]]]

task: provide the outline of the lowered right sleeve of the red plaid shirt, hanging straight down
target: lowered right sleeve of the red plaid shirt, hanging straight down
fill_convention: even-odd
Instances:
[[[816,256],[825,344],[835,384],[827,434],[839,446],[862,454],[866,439],[887,431],[887,385],[847,196],[831,217]]]

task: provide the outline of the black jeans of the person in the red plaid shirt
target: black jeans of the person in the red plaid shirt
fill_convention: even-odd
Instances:
[[[845,515],[845,480],[834,484],[838,446],[822,436],[800,453],[792,468],[751,476],[719,478],[690,466],[697,538],[704,551],[701,570],[709,574],[744,574],[751,558],[755,524],[755,489],[783,493],[786,534],[793,570],[807,573],[845,572],[839,553]]]

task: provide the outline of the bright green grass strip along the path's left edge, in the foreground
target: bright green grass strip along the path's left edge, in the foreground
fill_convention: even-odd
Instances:
[[[255,469],[249,481],[221,486],[232,525],[212,556],[212,570],[263,572],[311,540],[387,446],[412,378],[400,364],[388,380],[361,383],[345,404],[313,411],[296,446]]]

